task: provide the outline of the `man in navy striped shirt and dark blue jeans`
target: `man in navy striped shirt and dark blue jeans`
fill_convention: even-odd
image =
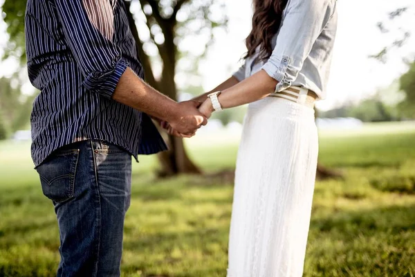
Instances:
[[[60,234],[57,276],[119,276],[131,155],[166,150],[149,116],[192,136],[206,123],[142,81],[121,0],[28,0],[32,157]],[[147,114],[149,116],[147,116]]]

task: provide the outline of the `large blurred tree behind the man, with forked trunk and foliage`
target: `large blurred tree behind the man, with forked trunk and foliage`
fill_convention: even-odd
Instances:
[[[221,13],[223,4],[215,0],[140,0],[124,1],[127,6],[129,25],[136,39],[138,56],[145,70],[145,80],[169,98],[177,99],[177,87],[174,81],[178,61],[181,55],[178,46],[185,37],[206,40],[206,48],[213,39],[213,29],[225,26],[227,17]],[[24,60],[24,10],[26,1],[6,0],[3,3],[4,20],[8,24],[10,42],[7,55],[16,55]],[[132,14],[131,10],[138,10]],[[219,15],[219,16],[218,16]],[[180,17],[180,18],[179,18]],[[143,20],[140,21],[140,18]],[[146,26],[145,33],[139,32]],[[194,28],[196,26],[196,30]],[[156,49],[156,51],[154,51]],[[199,55],[200,56],[200,55]],[[189,58],[187,56],[187,58]],[[197,56],[193,57],[195,60]],[[161,66],[156,75],[154,62]],[[170,176],[178,173],[200,173],[201,170],[190,161],[183,140],[167,136],[170,150],[158,155],[162,170],[160,175]]]

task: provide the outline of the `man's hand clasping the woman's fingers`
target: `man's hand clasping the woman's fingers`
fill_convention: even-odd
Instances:
[[[190,137],[202,125],[206,125],[208,120],[197,109],[199,105],[200,102],[193,100],[178,103],[176,116],[168,120],[169,134]]]

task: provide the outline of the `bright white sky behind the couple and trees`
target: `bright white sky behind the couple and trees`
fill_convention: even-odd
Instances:
[[[0,2],[2,2],[0,0]],[[230,17],[228,32],[215,33],[215,43],[199,71],[203,87],[208,90],[230,76],[240,66],[240,57],[246,51],[243,40],[250,31],[252,0],[228,0],[226,9]],[[407,44],[391,52],[388,62],[381,64],[369,59],[384,46],[398,38],[398,27],[391,35],[381,34],[376,27],[378,21],[387,21],[388,12],[412,6],[413,0],[338,0],[338,36],[328,86],[328,99],[319,102],[319,107],[329,109],[347,100],[369,97],[376,89],[386,87],[407,69],[403,57],[414,57],[415,30]],[[415,26],[414,9],[396,20],[392,26]],[[414,28],[412,28],[414,29]],[[0,23],[0,54],[6,40],[6,26]],[[203,42],[190,40],[185,48],[201,48]],[[0,76],[10,75],[16,69],[13,61],[0,61]],[[182,78],[178,78],[181,82]]]

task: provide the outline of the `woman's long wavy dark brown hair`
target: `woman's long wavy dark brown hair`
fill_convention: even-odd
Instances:
[[[274,35],[279,30],[282,11],[288,0],[254,0],[254,16],[252,17],[252,30],[246,38],[245,58],[255,54],[259,46],[259,60],[266,60],[273,53],[271,46]]]

